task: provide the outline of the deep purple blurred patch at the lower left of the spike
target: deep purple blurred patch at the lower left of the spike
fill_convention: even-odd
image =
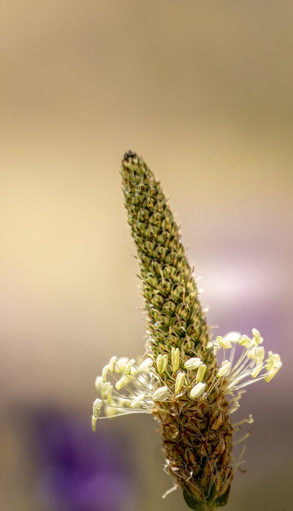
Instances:
[[[130,439],[54,411],[33,416],[32,451],[40,506],[48,511],[134,509],[136,474]],[[132,470],[131,470],[132,464]]]

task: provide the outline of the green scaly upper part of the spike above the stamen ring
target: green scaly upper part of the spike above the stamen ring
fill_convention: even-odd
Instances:
[[[209,338],[208,326],[160,182],[131,151],[124,155],[122,176],[128,223],[143,277],[152,349],[159,354],[162,344],[163,352],[165,346],[202,350]]]

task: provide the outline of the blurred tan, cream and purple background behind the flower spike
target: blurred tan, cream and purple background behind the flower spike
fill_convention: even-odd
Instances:
[[[292,18],[289,0],[1,3],[1,509],[187,509],[161,498],[151,416],[91,431],[95,377],[144,352],[131,149],[170,196],[216,335],[257,328],[284,361],[233,415],[255,422],[226,509],[289,510]]]

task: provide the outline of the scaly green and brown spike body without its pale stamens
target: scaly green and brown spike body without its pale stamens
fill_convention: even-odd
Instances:
[[[207,365],[204,381],[209,391],[217,363],[209,347],[209,329],[196,284],[160,182],[131,151],[122,161],[122,179],[141,267],[149,353],[153,357],[167,354],[170,372],[172,347],[180,350],[181,360],[200,357]],[[178,370],[186,371],[182,364]],[[165,385],[173,383],[168,371],[162,379]],[[192,400],[183,392],[153,408],[161,423],[166,468],[182,487],[191,509],[213,511],[228,502],[235,472],[230,465],[233,428],[229,406],[215,385],[205,400]]]

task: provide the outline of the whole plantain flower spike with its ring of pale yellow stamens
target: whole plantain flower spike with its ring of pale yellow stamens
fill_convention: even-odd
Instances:
[[[112,357],[97,377],[95,385],[103,401],[94,403],[93,429],[97,420],[105,418],[100,416],[102,403],[106,417],[153,414],[161,423],[165,471],[175,479],[163,497],[181,486],[190,509],[214,511],[227,504],[239,467],[231,456],[233,434],[239,424],[253,422],[250,416],[234,430],[229,413],[239,407],[243,387],[261,379],[271,381],[282,362],[272,352],[265,357],[256,329],[252,338],[230,332],[211,340],[160,182],[131,151],[124,155],[121,174],[141,268],[148,341],[140,364]],[[237,346],[242,354],[234,363]],[[222,349],[218,366],[216,355]],[[116,380],[114,386],[108,377]]]

